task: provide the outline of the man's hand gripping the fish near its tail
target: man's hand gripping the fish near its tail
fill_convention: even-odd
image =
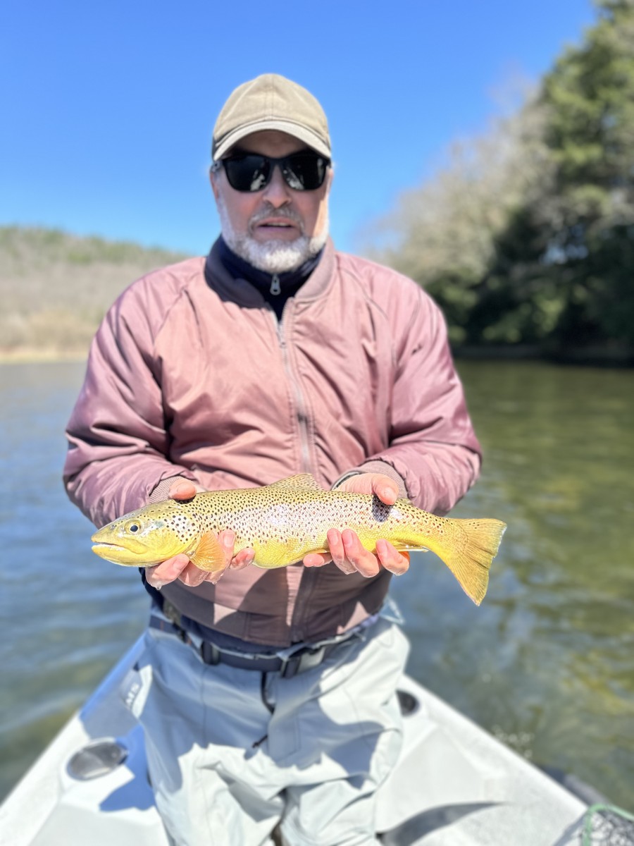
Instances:
[[[396,481],[381,473],[360,473],[351,476],[337,488],[338,491],[374,494],[385,505],[393,505],[398,497]],[[329,561],[343,573],[360,573],[363,576],[375,576],[381,567],[395,575],[405,573],[409,568],[407,552],[398,552],[389,541],[381,538],[376,541],[376,555],[361,545],[356,532],[351,529],[328,531],[330,554],[311,552],[303,559],[306,567],[322,567]]]

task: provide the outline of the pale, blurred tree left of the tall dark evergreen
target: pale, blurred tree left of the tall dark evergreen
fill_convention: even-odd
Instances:
[[[470,343],[472,316],[489,286],[504,294],[491,268],[500,263],[502,233],[522,206],[549,183],[544,110],[534,98],[498,118],[484,135],[456,142],[433,179],[402,195],[374,231],[391,246],[370,255],[416,279],[445,311],[450,338]],[[386,236],[386,233],[387,236]],[[505,274],[510,271],[507,268]],[[477,334],[477,332],[475,332]],[[517,340],[513,332],[502,338]]]

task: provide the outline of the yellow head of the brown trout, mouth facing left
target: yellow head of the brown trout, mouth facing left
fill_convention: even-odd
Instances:
[[[103,526],[92,536],[92,551],[107,561],[149,567],[185,552],[199,537],[199,526],[183,503],[168,500]]]

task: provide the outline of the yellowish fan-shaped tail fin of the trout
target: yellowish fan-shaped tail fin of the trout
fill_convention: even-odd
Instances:
[[[456,535],[445,548],[429,545],[460,582],[462,590],[476,605],[484,599],[489,585],[489,568],[500,547],[506,523],[495,519],[456,519]],[[453,533],[452,533],[453,534]],[[443,545],[444,546],[444,545]]]

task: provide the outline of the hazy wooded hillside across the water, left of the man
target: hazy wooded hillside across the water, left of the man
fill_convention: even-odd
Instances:
[[[0,227],[0,355],[85,355],[123,288],[185,257],[57,229]]]

